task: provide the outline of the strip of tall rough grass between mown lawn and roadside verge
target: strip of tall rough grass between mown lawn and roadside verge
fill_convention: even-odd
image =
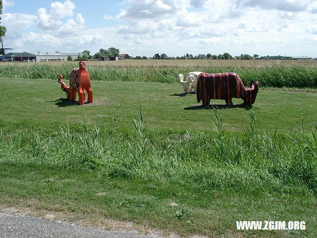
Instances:
[[[250,111],[250,126],[242,133],[223,130],[214,111],[214,132],[203,133],[148,128],[141,108],[128,130],[110,124],[81,129],[60,126],[0,129],[0,162],[98,170],[108,177],[171,181],[198,188],[317,193],[317,126],[292,135],[268,133]],[[212,117],[213,118],[213,117]],[[51,131],[47,133],[45,131]]]

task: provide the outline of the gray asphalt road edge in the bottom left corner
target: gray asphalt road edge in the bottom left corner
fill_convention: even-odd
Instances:
[[[23,214],[0,212],[0,238],[159,238],[136,231],[104,231],[68,222],[47,221]]]

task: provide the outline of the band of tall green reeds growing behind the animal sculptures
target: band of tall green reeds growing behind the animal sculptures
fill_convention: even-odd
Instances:
[[[0,77],[18,77],[28,79],[56,79],[61,73],[68,79],[74,63],[64,64],[32,64],[25,67],[19,64],[3,64],[0,67]],[[230,64],[185,64],[173,65],[88,65],[87,70],[92,80],[97,81],[133,81],[177,83],[179,73],[190,71],[203,72],[236,72],[243,83],[248,85],[253,79],[259,81],[262,87],[296,87],[317,88],[317,67],[303,64],[266,64],[266,65],[230,65]]]

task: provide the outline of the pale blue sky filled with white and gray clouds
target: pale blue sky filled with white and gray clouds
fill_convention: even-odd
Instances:
[[[4,47],[317,57],[317,0],[2,0]]]

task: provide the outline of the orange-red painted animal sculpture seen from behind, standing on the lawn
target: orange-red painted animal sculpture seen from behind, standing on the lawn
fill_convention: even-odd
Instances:
[[[88,94],[87,103],[93,102],[93,90],[90,86],[90,76],[86,70],[86,64],[84,61],[79,62],[79,68],[74,68],[71,70],[69,75],[69,87],[62,81],[63,76],[58,74],[58,83],[61,84],[61,90],[66,92],[67,99],[70,101],[75,101],[78,92],[79,95],[79,105],[83,105],[85,101],[85,90]]]

